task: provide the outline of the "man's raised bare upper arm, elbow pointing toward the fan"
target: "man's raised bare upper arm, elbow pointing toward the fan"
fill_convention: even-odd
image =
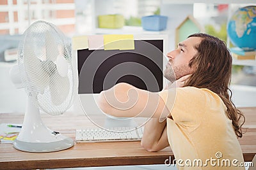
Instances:
[[[118,83],[109,90],[100,92],[99,108],[114,117],[156,117],[170,111],[161,97],[154,92],[138,89],[127,83]]]

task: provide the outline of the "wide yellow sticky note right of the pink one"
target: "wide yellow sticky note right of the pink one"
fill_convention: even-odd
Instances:
[[[133,35],[104,35],[104,50],[134,50]]]

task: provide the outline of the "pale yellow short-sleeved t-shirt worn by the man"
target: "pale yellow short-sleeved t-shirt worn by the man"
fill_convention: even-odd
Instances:
[[[164,90],[159,96],[173,118],[167,118],[167,133],[179,169],[244,169],[232,120],[217,94],[183,87]]]

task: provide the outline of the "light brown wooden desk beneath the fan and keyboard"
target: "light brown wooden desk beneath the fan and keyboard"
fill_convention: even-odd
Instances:
[[[252,161],[256,153],[256,108],[243,108],[246,115],[243,138],[239,139],[244,160]],[[2,113],[0,123],[22,123],[22,114]],[[85,115],[65,113],[57,117],[42,114],[45,125],[54,131],[75,138],[76,128],[92,124]],[[170,147],[160,152],[147,152],[140,142],[76,143],[72,148],[60,152],[28,153],[0,143],[0,169],[44,169],[61,167],[93,167],[164,164],[170,156]]]

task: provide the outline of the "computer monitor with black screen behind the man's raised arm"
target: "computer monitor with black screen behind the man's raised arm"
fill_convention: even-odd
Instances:
[[[166,35],[144,34],[134,35],[134,50],[77,50],[78,95],[88,118],[106,128],[136,127],[145,122],[145,118],[109,117],[95,101],[102,90],[120,82],[151,92],[163,90],[167,47]]]

